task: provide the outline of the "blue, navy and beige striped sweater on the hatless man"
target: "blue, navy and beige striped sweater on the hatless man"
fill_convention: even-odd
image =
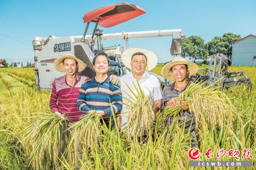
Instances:
[[[104,117],[108,117],[112,115],[111,103],[114,114],[116,114],[122,105],[120,86],[116,86],[118,88],[109,81],[109,77],[101,83],[97,82],[95,77],[84,80],[77,100],[78,108],[82,112],[103,110]]]

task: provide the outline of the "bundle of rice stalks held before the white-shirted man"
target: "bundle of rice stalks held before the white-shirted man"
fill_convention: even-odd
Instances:
[[[126,84],[126,83],[125,83]],[[132,136],[140,136],[142,137],[145,134],[149,134],[153,128],[153,122],[155,118],[155,114],[152,109],[152,104],[150,104],[149,96],[145,96],[143,93],[139,82],[137,80],[138,89],[136,88],[135,83],[133,82],[137,94],[127,85],[129,90],[133,93],[135,98],[133,98],[129,93],[125,92],[130,98],[127,99],[126,108],[128,110],[128,118],[127,125],[128,130],[128,138],[131,140]]]

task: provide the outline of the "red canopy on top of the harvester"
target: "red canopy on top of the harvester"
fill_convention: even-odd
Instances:
[[[146,11],[139,6],[127,2],[104,6],[84,14],[85,22],[98,22],[102,27],[108,28],[121,24],[132,18],[145,14]]]

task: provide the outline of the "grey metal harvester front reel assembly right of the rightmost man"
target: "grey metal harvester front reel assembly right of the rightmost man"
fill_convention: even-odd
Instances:
[[[211,61],[209,68],[202,68],[198,70],[198,73],[188,78],[190,81],[200,82],[205,81],[204,85],[213,85],[214,87],[221,86],[223,89],[228,89],[232,86],[247,85],[251,90],[252,83],[248,75],[236,66],[232,61],[223,54],[215,54],[210,56]],[[231,67],[233,65],[233,67]],[[236,72],[233,68],[239,68],[239,72]],[[232,72],[229,72],[231,70]],[[216,83],[216,81],[220,79]]]

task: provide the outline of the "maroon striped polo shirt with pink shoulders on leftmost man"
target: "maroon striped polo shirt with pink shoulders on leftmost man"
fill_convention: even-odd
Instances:
[[[77,122],[83,115],[77,107],[77,99],[81,84],[85,79],[88,79],[88,77],[76,75],[76,82],[72,91],[71,86],[66,82],[66,75],[55,79],[50,96],[51,111],[68,115],[69,119],[67,121],[69,122]]]

